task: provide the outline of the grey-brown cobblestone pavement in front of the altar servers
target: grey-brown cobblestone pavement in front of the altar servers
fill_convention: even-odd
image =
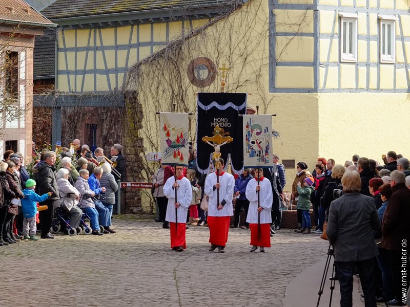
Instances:
[[[160,223],[113,224],[116,234],[0,247],[0,305],[281,307],[290,280],[327,250],[319,236],[281,229],[267,252],[250,253],[250,231],[230,229],[226,253],[210,253],[208,228],[190,227],[178,253]]]

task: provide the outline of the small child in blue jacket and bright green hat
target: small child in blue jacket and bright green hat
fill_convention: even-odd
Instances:
[[[23,210],[23,236],[27,240],[38,240],[39,238],[35,236],[37,231],[36,217],[37,213],[37,202],[41,203],[47,200],[51,192],[45,193],[42,196],[34,192],[35,181],[29,179],[26,181],[26,189],[23,190],[24,198],[22,199],[22,210]],[[30,232],[30,235],[29,235]]]

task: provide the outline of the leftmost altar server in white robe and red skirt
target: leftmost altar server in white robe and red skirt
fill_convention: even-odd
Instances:
[[[192,188],[191,183],[182,175],[182,166],[176,166],[175,177],[170,177],[163,186],[163,193],[168,198],[167,214],[165,220],[170,223],[171,248],[182,252],[187,248],[185,240],[185,229],[187,222],[188,208],[191,205]],[[177,199],[175,200],[175,189],[177,189]],[[175,208],[177,208],[178,221],[175,221]]]

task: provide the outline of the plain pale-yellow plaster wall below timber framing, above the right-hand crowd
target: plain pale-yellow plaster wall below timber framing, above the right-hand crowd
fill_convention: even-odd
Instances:
[[[326,93],[319,95],[319,156],[344,164],[358,154],[381,162],[382,153],[410,152],[407,120],[410,94]],[[394,110],[394,120],[383,111]],[[384,114],[384,115],[383,115]]]

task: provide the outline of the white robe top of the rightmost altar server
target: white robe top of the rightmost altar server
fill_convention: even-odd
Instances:
[[[258,224],[258,193],[256,192],[256,186],[258,182],[255,179],[249,181],[247,185],[247,190],[245,195],[249,201],[249,209],[247,216],[247,223]],[[271,182],[264,178],[259,182],[260,191],[259,191],[259,205],[263,208],[260,211],[260,224],[271,224],[272,223],[272,186]]]

